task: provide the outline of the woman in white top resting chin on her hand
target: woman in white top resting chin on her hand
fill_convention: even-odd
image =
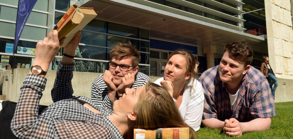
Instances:
[[[168,58],[164,77],[154,83],[169,92],[184,122],[198,131],[204,111],[204,92],[201,83],[195,79],[195,61],[187,50],[174,51]]]

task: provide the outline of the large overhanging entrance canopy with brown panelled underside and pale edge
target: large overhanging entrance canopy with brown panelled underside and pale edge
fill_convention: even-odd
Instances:
[[[93,7],[98,14],[95,19],[149,29],[149,35],[152,39],[191,44],[199,47],[210,45],[223,47],[233,41],[245,41],[249,44],[264,41],[263,37],[203,21],[194,22],[176,18],[177,15],[168,16],[163,14],[166,11],[157,10],[162,13],[160,14],[152,10],[154,8],[147,9],[147,6],[144,6],[144,9],[138,8],[131,1],[123,0],[124,3],[116,1],[80,0],[77,4],[82,7]]]

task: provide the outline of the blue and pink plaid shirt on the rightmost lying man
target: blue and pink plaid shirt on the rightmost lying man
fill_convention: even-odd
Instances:
[[[235,110],[232,110],[225,83],[220,80],[219,66],[206,70],[199,82],[204,87],[203,119],[217,118],[221,121],[235,118],[248,122],[255,118],[276,115],[275,103],[266,77],[254,67],[244,75]]]

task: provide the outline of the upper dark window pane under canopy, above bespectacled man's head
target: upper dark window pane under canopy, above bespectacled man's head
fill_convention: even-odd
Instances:
[[[138,28],[108,22],[108,33],[138,38]]]

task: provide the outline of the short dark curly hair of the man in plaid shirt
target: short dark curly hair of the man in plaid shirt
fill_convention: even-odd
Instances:
[[[224,53],[228,52],[229,56],[246,67],[251,64],[253,59],[253,50],[246,42],[230,42],[224,48]]]

